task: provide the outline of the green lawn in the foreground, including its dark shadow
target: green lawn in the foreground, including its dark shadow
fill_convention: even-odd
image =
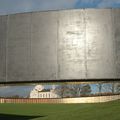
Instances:
[[[120,101],[97,104],[0,104],[0,120],[120,120]]]

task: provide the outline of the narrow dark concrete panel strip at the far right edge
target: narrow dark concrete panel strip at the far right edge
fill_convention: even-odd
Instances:
[[[114,18],[114,30],[115,30],[115,55],[116,55],[116,71],[117,78],[120,78],[120,9],[112,10]]]

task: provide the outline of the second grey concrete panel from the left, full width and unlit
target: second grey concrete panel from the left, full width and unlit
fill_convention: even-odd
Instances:
[[[7,41],[7,80],[30,79],[31,14],[9,16]]]

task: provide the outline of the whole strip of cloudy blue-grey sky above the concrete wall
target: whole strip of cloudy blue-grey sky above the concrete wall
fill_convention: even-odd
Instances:
[[[31,11],[76,9],[76,8],[119,8],[120,0],[0,0],[0,14]]]

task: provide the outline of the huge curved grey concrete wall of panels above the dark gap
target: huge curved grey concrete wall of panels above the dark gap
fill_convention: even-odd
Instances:
[[[120,9],[0,16],[0,82],[120,78]]]

